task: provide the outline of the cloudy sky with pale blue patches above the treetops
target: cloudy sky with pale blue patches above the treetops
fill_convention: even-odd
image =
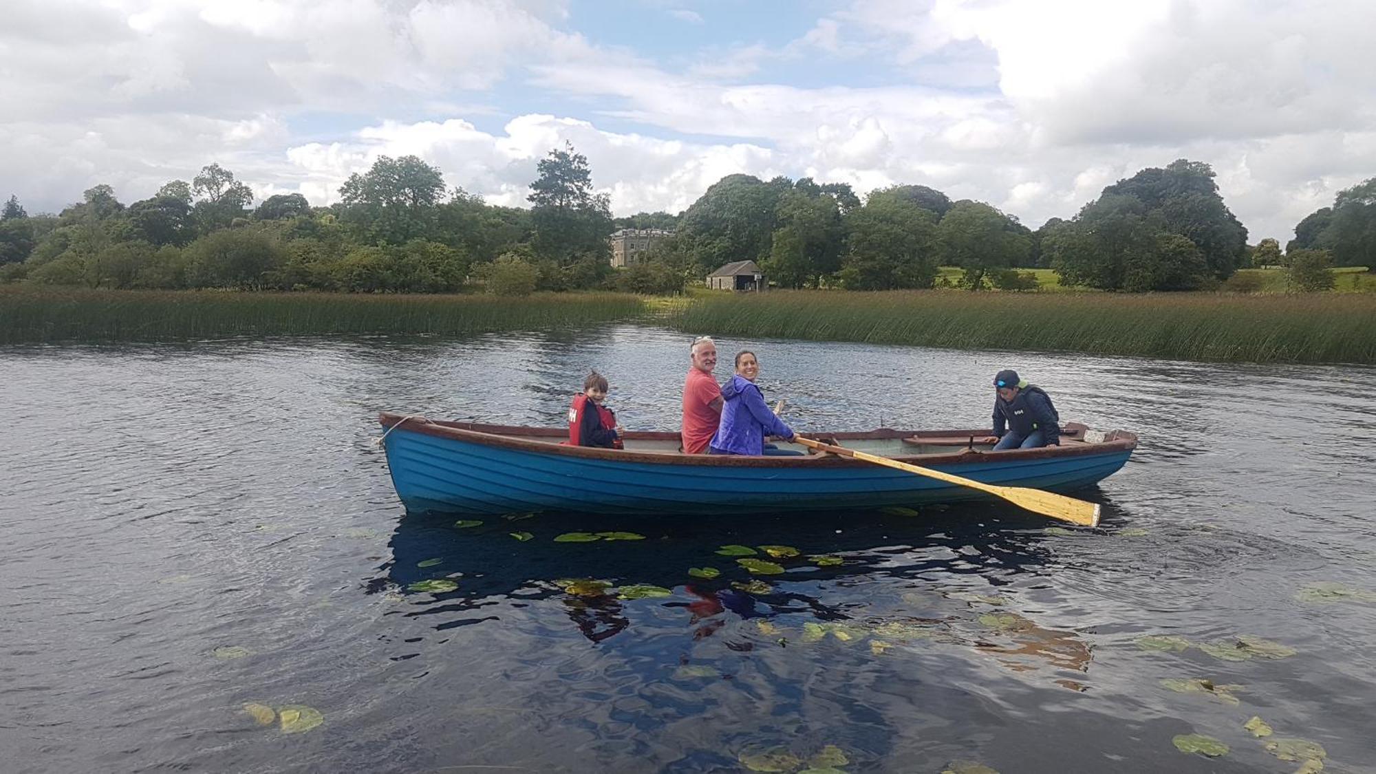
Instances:
[[[329,204],[414,153],[524,204],[568,139],[618,215],[749,172],[1036,227],[1187,157],[1284,244],[1376,176],[1373,29],[1372,0],[3,0],[0,197],[217,161]]]

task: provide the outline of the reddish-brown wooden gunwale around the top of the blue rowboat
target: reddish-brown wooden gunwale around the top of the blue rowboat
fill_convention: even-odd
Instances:
[[[392,426],[400,423],[403,419],[409,417],[394,412],[381,412],[377,419],[384,428],[391,428]],[[1084,426],[1076,423],[1068,424],[1066,428],[1068,430],[1076,428],[1076,434],[1084,431]],[[495,446],[499,449],[515,449],[522,452],[533,452],[538,454],[556,454],[566,457],[581,457],[588,460],[607,460],[615,463],[641,463],[654,466],[758,467],[758,468],[872,467],[870,463],[866,463],[863,460],[856,460],[850,457],[837,457],[834,454],[809,454],[802,457],[798,456],[754,457],[754,456],[740,456],[740,454],[674,454],[665,452],[630,452],[622,449],[597,449],[590,446],[563,446],[559,443],[549,443],[548,441],[524,439],[524,438],[563,438],[568,434],[567,430],[555,427],[522,427],[522,426],[506,426],[506,424],[483,424],[476,421],[431,420],[428,423],[407,421],[406,430],[411,432],[420,432],[422,435],[451,438],[455,441],[466,441],[469,443]],[[914,437],[951,438],[951,437],[974,435],[976,438],[981,438],[988,434],[989,434],[988,430],[890,430],[886,427],[863,432],[804,431],[804,435],[812,438],[817,437],[834,438],[842,443],[846,441],[892,441],[892,439],[914,438]],[[678,434],[629,431],[626,432],[626,439],[678,441]],[[995,456],[989,456],[985,452],[960,449],[959,452],[954,453],[904,454],[904,456],[893,456],[890,459],[914,464],[921,463],[923,466],[970,464],[970,463],[984,463],[984,461],[1013,463],[1024,460],[1094,456],[1106,452],[1130,452],[1135,448],[1137,448],[1137,435],[1127,432],[1124,430],[1115,430],[1106,434],[1102,443],[1073,443],[1064,446],[1043,446],[1040,449],[1015,449],[1007,452],[998,452]]]

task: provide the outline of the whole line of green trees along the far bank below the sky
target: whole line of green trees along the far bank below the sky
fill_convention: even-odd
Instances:
[[[1106,291],[1215,288],[1245,266],[1285,264],[1322,289],[1328,267],[1376,266],[1376,178],[1302,220],[1285,252],[1247,244],[1208,164],[1178,160],[1104,189],[1069,220],[1038,230],[980,201],[921,185],[861,198],[845,183],[728,175],[680,215],[612,218],[571,145],[537,164],[530,208],[449,190],[418,157],[381,157],[312,207],[252,190],[219,164],[125,205],[107,185],[58,215],[0,211],[0,281],[94,288],[239,288],[498,293],[610,288],[682,289],[735,260],[755,260],[784,288],[932,288],[938,267],[970,289],[1032,289],[1031,267],[1064,285]],[[663,229],[645,260],[610,266],[618,227]]]

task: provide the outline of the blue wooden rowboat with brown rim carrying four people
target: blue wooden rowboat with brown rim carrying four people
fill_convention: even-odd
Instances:
[[[720,515],[921,505],[980,492],[831,454],[682,454],[676,432],[627,432],[626,449],[566,446],[564,428],[378,417],[407,510]],[[988,430],[809,432],[846,448],[985,483],[1071,492],[1127,463],[1137,435],[1068,424],[1060,446],[988,452]],[[788,443],[780,443],[788,448]],[[797,446],[804,450],[802,446]]]

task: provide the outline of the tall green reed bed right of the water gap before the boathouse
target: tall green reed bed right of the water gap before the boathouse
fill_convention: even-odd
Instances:
[[[714,295],[695,333],[1237,362],[1376,364],[1376,296],[798,291]]]

